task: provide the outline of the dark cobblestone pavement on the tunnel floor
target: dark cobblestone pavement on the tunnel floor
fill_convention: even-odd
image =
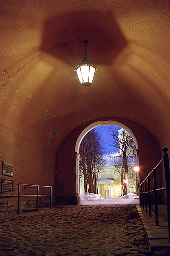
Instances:
[[[0,219],[0,256],[153,255],[134,204],[57,206]]]

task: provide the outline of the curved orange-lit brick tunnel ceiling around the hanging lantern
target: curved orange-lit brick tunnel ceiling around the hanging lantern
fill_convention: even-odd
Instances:
[[[0,23],[1,125],[54,154],[101,117],[128,119],[158,141],[169,130],[169,1],[2,0]],[[90,87],[74,72],[84,44],[69,44],[84,39],[98,67]]]

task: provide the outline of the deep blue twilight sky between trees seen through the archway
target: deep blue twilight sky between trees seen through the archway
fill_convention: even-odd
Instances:
[[[115,130],[117,131],[117,135],[118,135],[118,130],[120,130],[121,127],[118,127],[116,125],[109,125],[109,126],[114,126]],[[113,153],[119,152],[119,150],[117,148],[114,148],[113,146],[110,146],[111,141],[113,139],[112,139],[112,136],[111,136],[110,132],[108,131],[109,126],[100,125],[100,126],[94,128],[95,131],[100,131],[100,135],[101,135],[102,140],[103,140],[103,145],[105,146],[105,153],[106,154],[108,154],[110,152],[113,152]]]

